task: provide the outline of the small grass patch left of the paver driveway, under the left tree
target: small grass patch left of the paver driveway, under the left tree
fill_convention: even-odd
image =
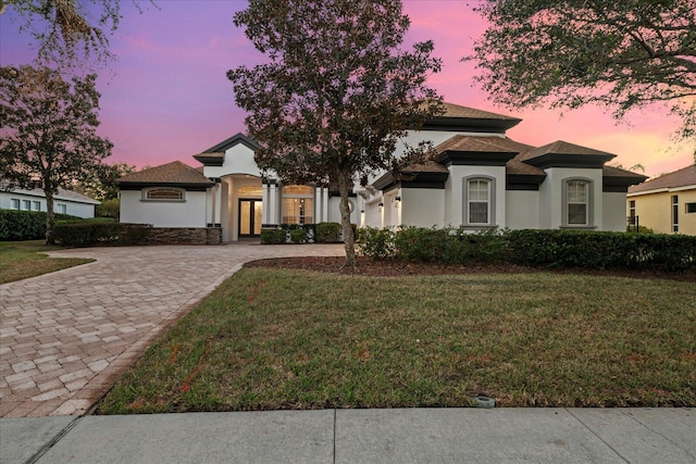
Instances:
[[[0,284],[90,263],[80,258],[49,258],[42,252],[62,250],[46,240],[0,241]]]

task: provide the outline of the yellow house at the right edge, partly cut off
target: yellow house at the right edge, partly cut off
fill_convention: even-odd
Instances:
[[[696,235],[696,164],[633,186],[626,197],[631,224]]]

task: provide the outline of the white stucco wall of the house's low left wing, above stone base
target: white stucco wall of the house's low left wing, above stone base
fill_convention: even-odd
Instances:
[[[121,191],[121,222],[153,227],[206,227],[206,192],[187,191],[185,201],[142,201],[140,190]]]

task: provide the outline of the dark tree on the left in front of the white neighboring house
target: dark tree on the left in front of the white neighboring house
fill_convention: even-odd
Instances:
[[[39,188],[53,242],[53,196],[94,178],[112,143],[97,135],[95,75],[62,79],[57,71],[0,67],[0,174],[7,188]]]

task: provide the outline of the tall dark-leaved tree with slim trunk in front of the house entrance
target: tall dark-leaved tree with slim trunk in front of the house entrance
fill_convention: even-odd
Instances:
[[[406,130],[440,111],[426,86],[433,42],[399,46],[409,27],[394,0],[251,0],[235,15],[268,63],[227,73],[262,170],[340,192],[346,266],[356,265],[348,197],[357,179],[394,170]]]

